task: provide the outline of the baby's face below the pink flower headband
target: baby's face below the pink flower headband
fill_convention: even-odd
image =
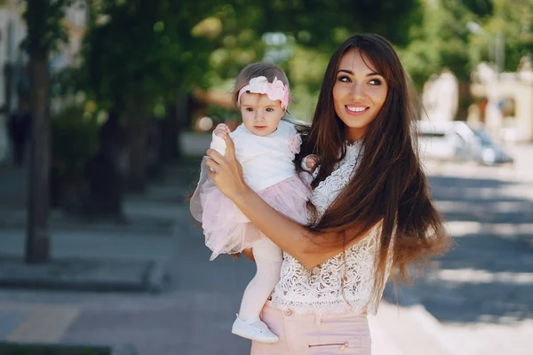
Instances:
[[[244,92],[241,96],[241,114],[246,129],[256,136],[268,136],[277,129],[285,114],[279,100],[268,99],[265,94]]]

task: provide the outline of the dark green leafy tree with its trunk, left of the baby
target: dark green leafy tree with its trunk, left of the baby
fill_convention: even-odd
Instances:
[[[141,191],[155,107],[203,81],[212,47],[190,28],[211,9],[209,2],[102,0],[97,10],[84,48],[87,88],[123,124],[129,185]]]

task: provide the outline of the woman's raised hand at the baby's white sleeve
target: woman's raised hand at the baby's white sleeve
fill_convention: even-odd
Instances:
[[[209,149],[207,156],[210,159],[205,164],[211,168],[207,175],[219,188],[221,193],[224,193],[228,199],[235,201],[235,199],[242,193],[250,191],[250,187],[246,185],[243,177],[243,167],[235,157],[235,144],[227,132],[224,132],[222,138],[226,142],[226,155],[219,154],[219,152]]]

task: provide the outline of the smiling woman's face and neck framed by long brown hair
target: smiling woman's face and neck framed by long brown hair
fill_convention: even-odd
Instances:
[[[385,78],[377,73],[360,51],[346,51],[338,63],[333,85],[335,112],[345,124],[345,137],[355,141],[366,133],[383,106],[388,90]]]

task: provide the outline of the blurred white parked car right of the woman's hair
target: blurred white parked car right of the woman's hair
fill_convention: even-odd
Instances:
[[[417,123],[420,151],[426,158],[483,165],[513,163],[513,157],[490,138],[482,125],[462,121]]]

